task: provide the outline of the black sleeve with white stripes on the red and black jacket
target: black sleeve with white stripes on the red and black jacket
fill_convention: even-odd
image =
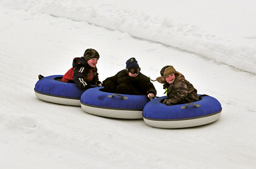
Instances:
[[[76,85],[80,88],[80,89],[86,89],[90,86],[90,84],[88,84],[84,79],[83,79],[83,72],[85,71],[86,68],[84,68],[84,66],[82,65],[77,65],[74,68],[74,75],[73,75],[73,79],[76,83]]]

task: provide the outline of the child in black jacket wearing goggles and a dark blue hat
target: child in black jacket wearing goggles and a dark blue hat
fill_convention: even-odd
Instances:
[[[103,81],[104,91],[110,93],[147,95],[154,98],[157,94],[150,78],[140,72],[140,67],[135,58],[126,62],[126,69],[119,71],[115,76]]]

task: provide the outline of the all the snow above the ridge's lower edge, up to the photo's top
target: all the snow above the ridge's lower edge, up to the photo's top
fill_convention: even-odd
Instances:
[[[128,5],[127,2],[119,1],[3,1],[4,6],[87,21],[109,30],[118,30],[138,38],[195,52],[208,59],[256,73],[256,27],[252,24],[256,21],[253,17],[256,16],[254,1],[180,1],[176,6],[173,5],[175,3],[177,2],[129,1]],[[208,14],[207,10],[210,10]],[[197,21],[198,17],[201,20]],[[226,22],[229,26],[223,26]],[[244,25],[241,26],[241,23]],[[215,24],[220,26],[214,28],[217,27]]]

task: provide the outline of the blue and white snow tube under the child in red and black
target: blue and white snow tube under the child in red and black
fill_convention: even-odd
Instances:
[[[80,106],[83,91],[75,83],[62,82],[62,77],[52,75],[39,78],[34,89],[36,97],[52,103]]]

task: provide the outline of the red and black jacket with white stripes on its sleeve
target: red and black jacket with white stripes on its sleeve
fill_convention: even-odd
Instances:
[[[97,68],[92,68],[83,57],[74,58],[73,67],[62,77],[61,81],[75,82],[82,90],[89,89],[90,85],[101,83]]]

